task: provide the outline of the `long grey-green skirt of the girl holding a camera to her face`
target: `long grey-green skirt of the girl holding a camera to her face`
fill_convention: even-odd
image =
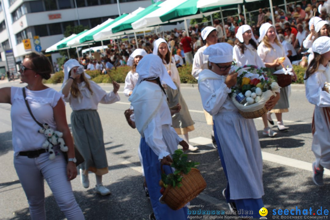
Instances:
[[[103,129],[96,110],[73,111],[72,135],[85,161],[79,168],[97,175],[108,173],[108,161],[103,141]]]

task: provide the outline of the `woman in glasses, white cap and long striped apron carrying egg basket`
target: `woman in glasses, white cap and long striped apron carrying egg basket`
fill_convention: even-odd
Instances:
[[[209,69],[199,74],[198,89],[203,107],[215,123],[215,139],[228,180],[222,194],[231,211],[253,210],[252,215],[242,217],[259,218],[264,195],[261,149],[253,119],[242,117],[229,97],[238,75],[234,73],[233,47],[218,43],[204,54],[209,56]],[[274,105],[272,100],[266,103],[267,108]]]

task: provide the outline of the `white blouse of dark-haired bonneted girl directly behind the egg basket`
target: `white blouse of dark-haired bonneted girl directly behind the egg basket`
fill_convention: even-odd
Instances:
[[[244,50],[244,53],[242,53],[240,47],[237,45],[234,46],[233,59],[237,66],[255,65],[257,67],[265,67],[265,64],[259,57],[257,50],[251,44],[245,46],[246,49]]]

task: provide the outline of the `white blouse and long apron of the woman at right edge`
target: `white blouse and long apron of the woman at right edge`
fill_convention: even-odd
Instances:
[[[322,91],[324,83],[329,81],[330,66],[319,65],[318,70],[305,80],[306,98],[315,105],[312,122],[312,151],[316,167],[321,165],[330,169],[330,94]]]

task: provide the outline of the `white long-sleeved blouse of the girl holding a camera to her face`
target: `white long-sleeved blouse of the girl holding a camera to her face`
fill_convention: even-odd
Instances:
[[[89,84],[93,94],[91,94],[91,92],[86,87],[86,83],[81,82],[78,83],[78,88],[82,94],[82,97],[74,98],[71,96],[71,92],[69,92],[69,95],[64,98],[66,102],[70,103],[72,110],[97,110],[99,103],[111,104],[120,100],[118,93],[115,94],[113,91],[107,93],[101,88],[101,86],[92,80],[89,80]]]

